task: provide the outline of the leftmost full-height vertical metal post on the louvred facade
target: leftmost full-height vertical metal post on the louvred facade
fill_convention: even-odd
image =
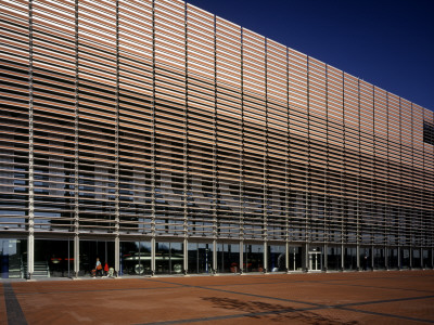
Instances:
[[[28,2],[28,239],[27,239],[27,280],[34,273],[35,255],[35,183],[34,183],[34,30],[33,0]]]

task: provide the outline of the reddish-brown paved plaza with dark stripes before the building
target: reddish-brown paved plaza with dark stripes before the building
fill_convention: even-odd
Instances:
[[[434,271],[0,282],[7,324],[430,324]]]

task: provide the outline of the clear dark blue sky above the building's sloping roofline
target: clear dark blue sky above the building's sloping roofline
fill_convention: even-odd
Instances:
[[[187,0],[434,110],[434,0]]]

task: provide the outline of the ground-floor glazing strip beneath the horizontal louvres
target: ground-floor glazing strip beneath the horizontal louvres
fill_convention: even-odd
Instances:
[[[170,237],[0,237],[2,278],[433,269],[433,247]],[[93,271],[97,259],[102,265],[98,272]]]

